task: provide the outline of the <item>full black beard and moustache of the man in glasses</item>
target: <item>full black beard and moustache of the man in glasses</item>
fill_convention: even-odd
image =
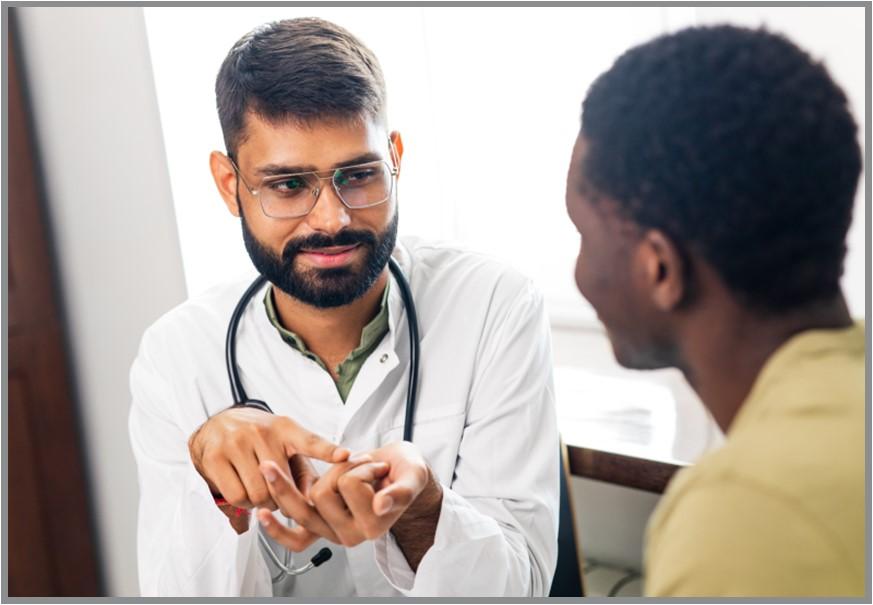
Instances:
[[[313,233],[288,242],[279,258],[251,232],[239,202],[237,199],[243,241],[258,272],[289,296],[320,309],[341,307],[363,296],[382,274],[397,242],[398,213],[395,212],[391,223],[382,233],[352,229],[344,229],[333,237]],[[361,269],[339,267],[299,270],[294,266],[295,257],[303,248],[311,250],[353,244],[360,244],[364,249],[364,265]]]

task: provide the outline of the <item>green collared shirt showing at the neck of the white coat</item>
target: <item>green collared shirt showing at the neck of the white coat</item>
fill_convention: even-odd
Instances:
[[[370,353],[376,349],[382,341],[382,337],[388,332],[389,286],[390,282],[385,286],[385,292],[382,294],[381,306],[379,307],[379,312],[376,314],[376,317],[364,326],[364,329],[361,331],[360,344],[354,351],[349,353],[349,356],[346,357],[336,368],[337,378],[334,382],[336,383],[336,390],[339,392],[343,403],[346,402],[346,398],[352,390],[352,385],[355,383],[355,378],[358,377],[358,372],[361,371],[367,357],[369,357]],[[318,355],[306,347],[306,343],[303,342],[303,339],[297,336],[294,332],[286,330],[279,322],[279,316],[276,313],[276,307],[273,304],[273,286],[267,288],[267,294],[264,296],[264,307],[267,309],[267,317],[270,319],[270,323],[279,331],[282,340],[300,351],[304,357],[308,357],[320,365],[325,372],[329,373],[325,363],[318,357]]]

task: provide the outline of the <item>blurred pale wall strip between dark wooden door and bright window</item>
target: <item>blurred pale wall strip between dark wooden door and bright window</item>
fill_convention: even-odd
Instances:
[[[142,10],[12,10],[21,24],[107,590],[135,596],[128,369],[146,326],[185,297]]]

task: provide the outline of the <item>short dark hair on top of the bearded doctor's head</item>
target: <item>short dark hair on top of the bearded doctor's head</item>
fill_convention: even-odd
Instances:
[[[322,19],[275,21],[243,36],[221,65],[215,97],[232,157],[245,140],[249,111],[273,123],[364,118],[384,123],[385,81],[376,56]]]

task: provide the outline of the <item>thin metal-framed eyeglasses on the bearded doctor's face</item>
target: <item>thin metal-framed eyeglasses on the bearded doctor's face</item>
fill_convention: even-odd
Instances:
[[[268,176],[252,189],[233,158],[228,159],[245,188],[258,198],[261,209],[270,218],[299,218],[309,214],[318,203],[321,182],[328,179],[347,208],[378,206],[391,199],[397,176],[397,168],[386,160],[376,160],[330,171]]]

